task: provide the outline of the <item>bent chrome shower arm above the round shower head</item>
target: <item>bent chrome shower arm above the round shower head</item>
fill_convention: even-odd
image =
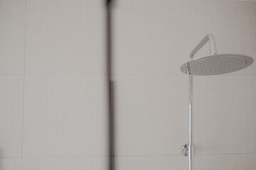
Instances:
[[[211,55],[217,54],[215,38],[213,37],[213,35],[208,34],[208,35],[206,35],[206,37],[203,38],[203,40],[201,40],[201,42],[199,42],[199,44],[191,52],[191,54],[189,55],[189,60],[193,59],[193,55],[195,55],[196,52],[198,52],[201,49],[201,47],[203,47],[203,45],[205,45],[206,42],[208,42],[208,41],[210,44],[210,54]]]

